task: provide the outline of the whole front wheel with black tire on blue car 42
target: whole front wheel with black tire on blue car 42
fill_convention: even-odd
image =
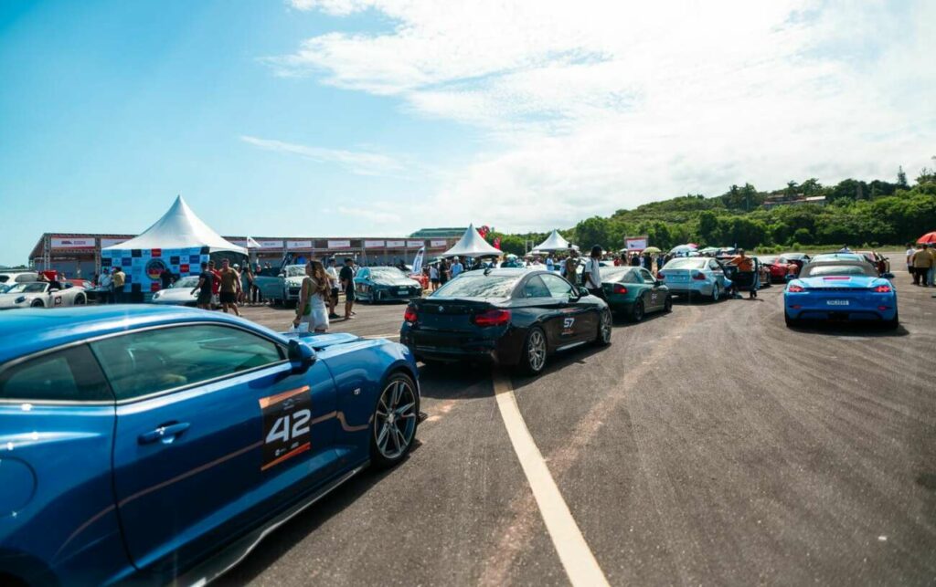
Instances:
[[[402,391],[397,403],[393,404],[395,389],[405,391]],[[391,412],[393,417],[388,417]],[[399,427],[398,422],[404,422],[403,429]],[[400,463],[413,449],[418,427],[419,395],[416,383],[403,372],[393,373],[384,382],[373,407],[371,464],[377,468],[388,468]],[[391,439],[397,440],[398,443],[394,445]]]

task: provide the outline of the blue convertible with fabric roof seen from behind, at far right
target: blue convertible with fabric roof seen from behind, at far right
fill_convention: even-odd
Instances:
[[[787,326],[801,320],[876,321],[897,328],[897,290],[866,261],[826,260],[805,265],[783,291]]]

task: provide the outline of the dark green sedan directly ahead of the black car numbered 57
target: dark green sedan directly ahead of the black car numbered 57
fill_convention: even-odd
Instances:
[[[643,267],[602,267],[601,288],[611,311],[633,322],[651,312],[673,308],[669,288]]]

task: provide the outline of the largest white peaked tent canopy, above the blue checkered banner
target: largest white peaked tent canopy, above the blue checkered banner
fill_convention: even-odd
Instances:
[[[172,208],[169,208],[163,217],[147,228],[143,234],[119,245],[107,247],[104,251],[195,247],[208,247],[209,252],[229,251],[247,254],[246,249],[228,242],[223,236],[214,232],[208,224],[202,222],[180,195],[176,197]]]

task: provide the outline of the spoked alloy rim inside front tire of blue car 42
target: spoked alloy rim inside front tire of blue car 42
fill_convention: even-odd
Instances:
[[[417,426],[416,392],[407,379],[392,379],[377,402],[373,439],[380,455],[395,460],[413,442]]]

